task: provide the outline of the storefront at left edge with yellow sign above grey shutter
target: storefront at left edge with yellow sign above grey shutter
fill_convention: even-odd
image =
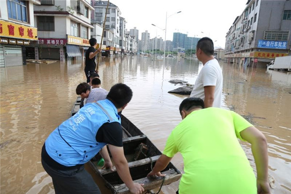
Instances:
[[[26,65],[26,47],[36,41],[36,28],[0,19],[0,67]]]

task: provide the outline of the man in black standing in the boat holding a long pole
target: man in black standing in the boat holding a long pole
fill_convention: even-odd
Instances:
[[[96,38],[90,38],[89,43],[91,45],[91,47],[89,47],[89,49],[86,51],[85,54],[85,74],[87,77],[87,83],[90,82],[90,74],[93,72],[96,72],[96,55],[97,53],[101,53],[102,49],[98,48],[97,50],[95,49],[97,47],[97,40]]]

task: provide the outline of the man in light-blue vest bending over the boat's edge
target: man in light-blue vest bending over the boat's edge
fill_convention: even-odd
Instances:
[[[144,191],[143,184],[132,181],[123,152],[118,112],[131,98],[132,91],[127,85],[115,84],[105,100],[86,104],[52,131],[43,145],[41,157],[56,194],[100,194],[84,164],[100,151],[104,167],[112,169],[107,144],[117,173],[130,192],[141,194]]]

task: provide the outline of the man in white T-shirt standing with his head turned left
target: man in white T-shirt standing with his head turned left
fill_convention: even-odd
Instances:
[[[196,57],[203,63],[190,97],[201,98],[205,107],[221,107],[222,71],[214,58],[213,41],[208,37],[201,38],[196,46]]]

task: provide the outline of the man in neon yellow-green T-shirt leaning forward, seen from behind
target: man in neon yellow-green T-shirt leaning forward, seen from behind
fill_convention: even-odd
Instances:
[[[233,111],[203,108],[200,98],[182,101],[182,121],[148,176],[163,176],[160,171],[180,152],[185,173],[179,194],[270,194],[265,136]],[[252,145],[257,182],[237,138]]]

